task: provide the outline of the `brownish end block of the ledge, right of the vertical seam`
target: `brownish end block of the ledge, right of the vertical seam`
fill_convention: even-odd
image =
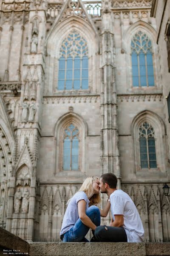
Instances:
[[[147,256],[170,255],[170,243],[147,243]]]

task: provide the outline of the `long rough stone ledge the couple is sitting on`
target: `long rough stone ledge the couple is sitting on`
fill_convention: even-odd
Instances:
[[[170,256],[170,243],[33,242],[29,256]]]

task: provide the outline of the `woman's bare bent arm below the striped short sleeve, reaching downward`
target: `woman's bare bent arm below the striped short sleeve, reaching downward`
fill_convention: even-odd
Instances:
[[[81,219],[82,223],[85,224],[85,226],[90,227],[92,230],[95,230],[96,225],[86,215],[85,208],[86,208],[86,201],[85,200],[80,200],[78,202],[79,218]]]

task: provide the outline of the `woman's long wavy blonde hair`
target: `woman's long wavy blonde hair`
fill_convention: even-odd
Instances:
[[[90,200],[91,205],[96,205],[99,204],[101,199],[99,194],[94,194],[93,195],[93,187],[92,184],[94,181],[99,181],[99,177],[91,176],[85,179],[85,181],[82,183],[81,188],[79,191],[83,191],[86,193],[87,197]]]

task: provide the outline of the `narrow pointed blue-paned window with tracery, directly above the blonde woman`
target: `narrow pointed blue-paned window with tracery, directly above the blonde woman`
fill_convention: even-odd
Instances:
[[[79,170],[79,130],[71,123],[64,130],[63,170]]]

